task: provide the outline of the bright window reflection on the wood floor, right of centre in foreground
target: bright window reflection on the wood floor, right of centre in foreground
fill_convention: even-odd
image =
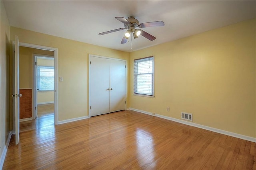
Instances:
[[[136,129],[137,160],[140,167],[155,167],[154,138],[146,130]]]

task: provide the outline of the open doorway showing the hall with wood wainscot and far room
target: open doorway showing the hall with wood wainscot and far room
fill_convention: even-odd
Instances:
[[[19,54],[20,132],[54,125],[54,51],[20,46]]]

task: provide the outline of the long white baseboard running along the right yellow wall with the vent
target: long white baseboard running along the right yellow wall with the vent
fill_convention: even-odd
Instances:
[[[152,113],[146,112],[146,111],[143,111],[143,110],[138,110],[138,109],[134,109],[134,108],[129,108],[129,110],[133,110],[133,111],[136,111],[136,112],[140,112],[140,113],[144,113],[144,114],[148,114],[148,115],[153,116]],[[168,116],[163,116],[163,115],[160,115],[160,114],[155,114],[154,116],[159,117],[159,118],[163,118],[163,119],[167,119],[167,120],[171,120],[171,121],[174,121],[174,122],[186,124],[186,125],[189,125],[189,126],[194,126],[194,127],[197,127],[197,128],[205,129],[205,130],[210,130],[212,132],[217,132],[217,133],[232,136],[232,137],[235,137],[235,138],[248,140],[250,142],[255,142],[256,143],[256,138],[252,138],[250,136],[245,136],[245,135],[242,135],[242,134],[236,134],[236,133],[233,133],[233,132],[228,132],[228,131],[225,131],[225,130],[212,128],[212,127],[209,127],[209,126],[204,126],[204,125],[200,125],[200,124],[196,124],[196,123],[192,123],[192,122],[187,122],[185,120],[180,120],[180,119],[171,118],[171,117],[168,117]]]

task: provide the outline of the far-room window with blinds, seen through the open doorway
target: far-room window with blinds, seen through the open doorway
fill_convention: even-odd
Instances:
[[[37,66],[37,89],[39,91],[54,90],[54,67]]]

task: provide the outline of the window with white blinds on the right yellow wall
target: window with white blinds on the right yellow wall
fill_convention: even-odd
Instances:
[[[134,60],[134,94],[154,96],[154,57]]]

